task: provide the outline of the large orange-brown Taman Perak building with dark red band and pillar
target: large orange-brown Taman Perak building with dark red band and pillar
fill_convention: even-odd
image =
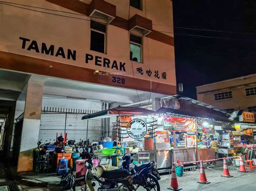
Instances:
[[[42,122],[44,108],[88,113],[176,94],[170,0],[9,0],[0,10],[0,103],[13,103],[6,115],[16,108],[7,151],[24,112],[18,172],[32,170],[38,137],[63,128]]]

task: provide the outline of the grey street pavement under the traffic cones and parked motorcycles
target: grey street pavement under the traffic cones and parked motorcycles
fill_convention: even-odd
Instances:
[[[238,172],[238,168],[234,166],[228,166],[230,174],[233,175],[232,178],[225,178],[220,176],[223,173],[222,167],[212,167],[205,168],[207,181],[211,183],[208,185],[203,185],[197,183],[199,180],[199,169],[196,171],[184,172],[183,176],[177,177],[179,187],[183,188],[182,190],[232,190],[232,191],[255,191],[256,190],[256,171],[241,173]],[[35,191],[48,191],[48,190],[61,190],[59,186],[60,176],[55,174],[21,174],[23,180],[21,179],[18,182],[18,186],[21,190],[35,190]],[[25,183],[25,180],[33,180],[30,184]],[[171,174],[161,175],[161,180],[159,181],[161,190],[169,190],[167,187],[170,186]],[[35,182],[40,182],[36,184]],[[47,183],[47,186],[45,186]],[[98,183],[96,182],[96,190]],[[8,190],[6,186],[0,186],[0,190]],[[145,190],[139,188],[139,191]]]

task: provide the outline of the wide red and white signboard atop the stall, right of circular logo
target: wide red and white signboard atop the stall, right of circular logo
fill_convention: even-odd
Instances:
[[[196,132],[194,119],[184,117],[164,117],[164,130]]]

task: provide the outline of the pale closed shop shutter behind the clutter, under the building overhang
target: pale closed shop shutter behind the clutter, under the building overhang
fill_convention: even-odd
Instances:
[[[42,113],[41,124],[39,130],[39,140],[44,142],[55,142],[56,133],[58,136],[60,133],[64,133],[65,119],[66,119],[66,133],[68,133],[68,139],[75,139],[79,142],[80,139],[86,140],[86,128],[87,120],[81,118],[84,114],[65,114],[65,113]],[[110,118],[110,132],[112,135],[113,124],[116,121],[116,117]],[[88,133],[87,137],[90,141],[100,140],[102,137],[101,132],[101,119],[89,119],[88,120]],[[50,141],[51,139],[51,141]]]

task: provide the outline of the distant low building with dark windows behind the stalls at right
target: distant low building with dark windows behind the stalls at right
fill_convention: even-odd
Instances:
[[[198,86],[197,99],[227,111],[256,113],[256,74]]]

